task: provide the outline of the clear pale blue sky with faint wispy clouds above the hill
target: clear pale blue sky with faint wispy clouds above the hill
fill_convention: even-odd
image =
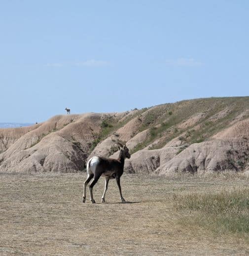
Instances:
[[[0,122],[243,95],[248,0],[0,2]]]

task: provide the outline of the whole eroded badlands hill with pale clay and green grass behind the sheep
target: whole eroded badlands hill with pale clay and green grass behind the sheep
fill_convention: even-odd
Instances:
[[[30,127],[0,129],[0,171],[75,172],[93,155],[117,157],[125,171],[249,170],[249,97],[205,98],[123,113],[59,115]]]

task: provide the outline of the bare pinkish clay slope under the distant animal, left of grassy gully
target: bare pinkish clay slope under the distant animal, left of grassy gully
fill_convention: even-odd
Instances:
[[[94,113],[51,118],[19,137],[0,154],[0,171],[83,170],[85,152],[100,132],[102,119],[103,114]]]

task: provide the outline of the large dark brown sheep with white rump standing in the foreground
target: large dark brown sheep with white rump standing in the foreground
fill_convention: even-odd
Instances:
[[[102,203],[105,203],[105,195],[107,192],[109,179],[113,178],[116,179],[120,193],[120,199],[122,202],[125,202],[121,192],[120,177],[124,171],[125,158],[130,158],[131,155],[129,154],[129,149],[126,147],[126,145],[123,146],[121,143],[118,143],[118,149],[120,150],[118,159],[94,156],[87,162],[87,178],[84,182],[83,203],[86,201],[86,186],[92,178],[93,180],[89,185],[90,201],[92,201],[93,204],[95,203],[95,200],[93,199],[93,186],[96,184],[100,176],[106,177]]]

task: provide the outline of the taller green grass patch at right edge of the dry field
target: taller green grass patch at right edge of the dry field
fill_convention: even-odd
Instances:
[[[204,226],[219,234],[237,233],[249,239],[249,188],[173,198],[184,225]]]

